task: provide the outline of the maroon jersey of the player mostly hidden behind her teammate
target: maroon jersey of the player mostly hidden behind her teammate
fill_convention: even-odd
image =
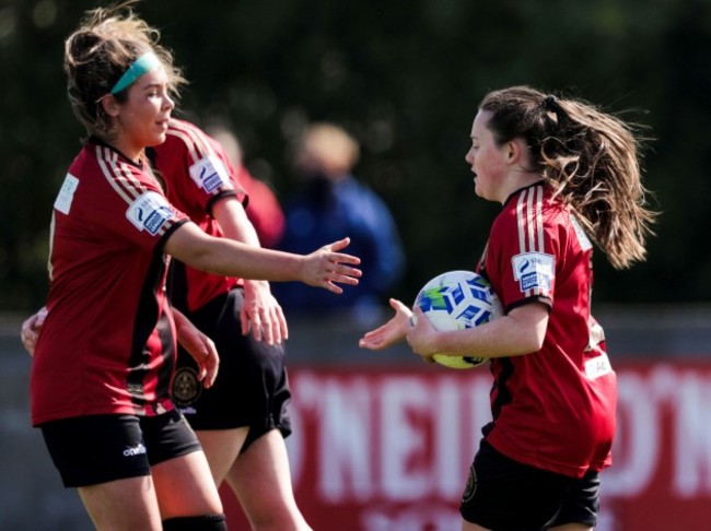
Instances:
[[[234,196],[246,202],[246,194],[222,146],[194,125],[172,119],[165,142],[152,152],[155,168],[166,180],[171,203],[205,233],[222,236],[211,215],[214,201]],[[183,263],[174,266],[173,302],[185,311],[193,312],[242,283],[241,279],[206,273]]]

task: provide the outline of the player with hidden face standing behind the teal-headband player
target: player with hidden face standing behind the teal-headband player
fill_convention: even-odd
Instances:
[[[252,197],[220,143],[172,119],[165,142],[148,153],[167,182],[168,200],[202,231],[259,247],[243,206],[253,206]],[[180,349],[173,385],[173,400],[196,430],[215,484],[228,481],[255,530],[311,529],[291,485],[284,442],[291,392],[282,343],[288,328],[269,283],[173,266],[174,307],[220,352],[220,373],[206,390],[199,366]]]

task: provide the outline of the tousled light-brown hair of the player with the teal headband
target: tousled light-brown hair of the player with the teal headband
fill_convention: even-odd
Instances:
[[[173,64],[171,51],[159,44],[160,32],[139,19],[129,0],[86,11],[79,27],[65,42],[67,91],[74,115],[90,134],[108,140],[114,133],[102,98],[137,58],[154,52],[168,76],[168,90],[177,97],[185,83]],[[115,94],[120,103],[128,87]]]

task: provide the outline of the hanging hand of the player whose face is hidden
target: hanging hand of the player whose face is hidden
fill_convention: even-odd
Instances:
[[[252,330],[255,341],[264,340],[268,345],[273,345],[289,339],[287,318],[266,281],[244,281],[240,320],[242,333],[246,335]]]

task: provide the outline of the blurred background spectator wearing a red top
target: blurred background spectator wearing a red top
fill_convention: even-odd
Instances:
[[[226,153],[235,169],[235,177],[247,192],[249,201],[245,205],[247,217],[257,231],[263,247],[273,248],[284,229],[284,214],[269,186],[249,174],[242,160],[242,145],[232,131],[221,126],[207,129]]]

